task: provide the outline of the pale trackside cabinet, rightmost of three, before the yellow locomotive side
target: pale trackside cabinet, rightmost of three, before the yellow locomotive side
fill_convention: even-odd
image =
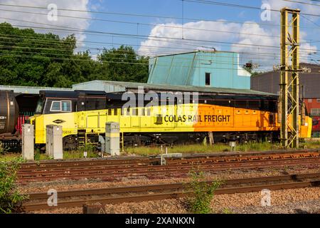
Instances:
[[[105,125],[105,152],[112,156],[120,155],[120,126],[119,123]]]

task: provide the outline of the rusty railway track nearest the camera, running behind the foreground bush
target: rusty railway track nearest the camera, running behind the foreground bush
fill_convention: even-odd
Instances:
[[[215,195],[256,192],[263,189],[281,190],[319,186],[320,173],[255,177],[225,180],[223,185],[215,191]],[[186,189],[186,184],[183,183],[71,190],[58,192],[58,206],[49,207],[47,204],[47,193],[41,192],[31,193],[29,195],[29,202],[23,204],[23,209],[26,212],[31,212],[39,209],[82,207],[84,204],[119,204],[122,202],[174,199],[186,197],[190,194],[190,190]]]

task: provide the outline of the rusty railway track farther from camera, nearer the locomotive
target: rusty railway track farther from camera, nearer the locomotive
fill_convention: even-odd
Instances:
[[[137,162],[139,161],[139,162]],[[233,169],[259,169],[267,167],[292,167],[298,165],[320,165],[320,152],[294,152],[267,155],[237,155],[218,157],[191,157],[169,159],[167,165],[151,165],[156,160],[139,159],[134,162],[97,160],[90,162],[53,162],[55,165],[36,167],[31,164],[21,167],[18,172],[19,182],[48,180],[77,180],[83,178],[132,177],[186,174],[191,170],[215,172]],[[67,164],[73,164],[68,166]]]

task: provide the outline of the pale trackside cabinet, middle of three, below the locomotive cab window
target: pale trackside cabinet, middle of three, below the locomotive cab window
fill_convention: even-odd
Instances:
[[[47,125],[46,154],[53,159],[63,159],[63,130],[62,126]]]

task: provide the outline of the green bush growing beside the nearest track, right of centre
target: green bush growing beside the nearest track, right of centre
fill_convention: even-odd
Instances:
[[[186,189],[192,192],[187,199],[188,209],[195,214],[211,213],[210,203],[220,181],[207,182],[203,172],[192,171],[190,176],[191,182],[186,184]]]

